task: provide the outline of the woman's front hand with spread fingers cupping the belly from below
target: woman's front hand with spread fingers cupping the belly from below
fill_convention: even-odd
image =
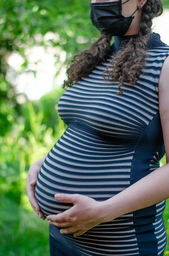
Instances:
[[[60,198],[57,198],[57,195],[60,195]],[[60,202],[74,204],[64,212],[46,217],[49,224],[67,227],[60,230],[62,234],[74,233],[74,236],[80,236],[92,227],[106,222],[102,202],[80,194],[55,194],[54,198]]]

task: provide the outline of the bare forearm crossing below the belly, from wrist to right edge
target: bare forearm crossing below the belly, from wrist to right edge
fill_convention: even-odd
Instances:
[[[169,198],[169,163],[100,202],[105,222]]]

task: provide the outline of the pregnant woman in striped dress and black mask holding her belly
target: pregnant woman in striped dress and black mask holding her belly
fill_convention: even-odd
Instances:
[[[29,169],[29,200],[50,220],[51,256],[163,256],[169,46],[151,29],[162,3],[90,8],[101,35],[66,72],[58,112],[68,128]]]

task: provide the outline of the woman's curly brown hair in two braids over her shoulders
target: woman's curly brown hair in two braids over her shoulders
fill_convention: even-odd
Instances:
[[[112,56],[110,65],[103,71],[102,77],[106,81],[119,82],[117,94],[123,94],[121,87],[124,82],[136,84],[140,74],[143,74],[148,57],[146,50],[152,34],[152,19],[162,13],[161,0],[147,0],[143,6],[138,34],[130,38],[129,42]],[[98,41],[88,50],[74,56],[71,66],[66,71],[68,79],[64,80],[63,88],[71,87],[74,82],[86,78],[97,65],[109,58],[111,39],[112,36],[101,34]]]

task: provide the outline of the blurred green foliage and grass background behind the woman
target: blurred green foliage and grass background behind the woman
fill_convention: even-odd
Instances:
[[[163,0],[163,6],[169,8],[169,1]],[[55,55],[57,77],[75,54],[87,49],[100,35],[92,26],[89,12],[88,0],[0,1],[0,255],[49,255],[49,224],[37,216],[29,203],[26,176],[30,165],[49,152],[66,129],[57,112],[64,90],[54,87],[37,101],[26,98],[24,104],[18,103],[17,90],[6,76],[6,60],[13,52],[24,58],[19,70],[10,69],[14,77],[28,67],[27,47],[60,47],[66,52],[66,60],[61,62],[60,55]],[[43,37],[49,31],[57,33],[58,40],[46,43]],[[78,43],[79,36],[85,43]],[[30,71],[36,77],[36,69]],[[166,155],[160,166],[165,163]],[[167,234],[168,218],[166,200]]]

